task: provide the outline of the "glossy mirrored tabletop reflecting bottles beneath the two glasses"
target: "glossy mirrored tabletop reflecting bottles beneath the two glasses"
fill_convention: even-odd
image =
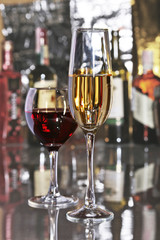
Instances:
[[[68,141],[60,149],[61,193],[79,198],[86,190],[84,141]],[[72,223],[67,209],[35,209],[33,195],[46,194],[48,152],[39,146],[0,147],[0,240],[158,240],[160,236],[160,147],[95,144],[96,202],[114,213],[111,222]]]

